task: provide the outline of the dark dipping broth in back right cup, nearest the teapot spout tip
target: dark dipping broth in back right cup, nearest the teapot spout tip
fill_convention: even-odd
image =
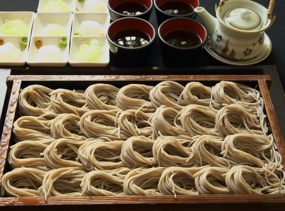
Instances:
[[[184,1],[166,1],[159,8],[172,15],[187,15],[194,12],[194,7]]]

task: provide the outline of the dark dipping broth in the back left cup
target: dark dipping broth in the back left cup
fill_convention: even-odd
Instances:
[[[124,15],[139,15],[147,11],[148,8],[140,2],[125,1],[115,5],[113,10]]]

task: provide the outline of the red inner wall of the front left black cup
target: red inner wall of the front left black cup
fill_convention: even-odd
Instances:
[[[153,28],[147,22],[136,18],[126,18],[113,22],[113,25],[109,27],[109,37],[112,39],[114,34],[122,29],[141,29],[146,32],[151,39],[153,39],[154,36]]]

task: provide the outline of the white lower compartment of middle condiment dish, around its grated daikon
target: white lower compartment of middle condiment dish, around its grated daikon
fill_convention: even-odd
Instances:
[[[42,41],[42,46],[55,45],[58,47],[58,42],[63,36],[32,36],[28,51],[27,64],[30,66],[58,66],[63,67],[68,63],[70,37],[67,36],[67,45],[65,48],[60,48],[62,54],[61,62],[40,62],[38,61],[38,49],[34,42],[39,38]]]

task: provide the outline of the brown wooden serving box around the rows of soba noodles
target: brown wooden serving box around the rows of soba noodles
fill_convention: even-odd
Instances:
[[[6,84],[10,95],[0,142],[0,185],[1,178],[9,171],[7,154],[13,142],[13,122],[19,116],[17,102],[20,89],[39,84],[51,89],[85,90],[95,83],[107,83],[116,87],[140,83],[155,86],[161,81],[176,81],[186,85],[198,81],[213,86],[220,81],[232,81],[255,88],[264,99],[264,113],[267,116],[269,132],[273,133],[278,152],[285,160],[285,144],[272,105],[269,89],[272,81],[269,75],[10,75]],[[10,141],[11,140],[11,141]],[[35,206],[38,205],[38,206]],[[82,197],[3,197],[0,198],[1,210],[284,210],[285,195],[178,195],[167,196],[82,196]]]

